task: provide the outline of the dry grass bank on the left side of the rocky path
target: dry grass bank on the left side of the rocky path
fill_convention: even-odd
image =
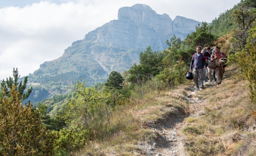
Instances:
[[[103,141],[88,143],[83,150],[73,155],[141,156],[144,149],[136,144],[151,142],[157,138],[156,132],[151,130],[154,123],[165,119],[170,113],[187,111],[184,86],[167,92],[149,90],[145,86],[137,90],[137,93],[133,92],[130,103],[117,108],[109,119],[110,124],[121,125],[116,129],[117,132]]]

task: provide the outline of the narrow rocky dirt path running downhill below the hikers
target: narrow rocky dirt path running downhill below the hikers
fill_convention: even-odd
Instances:
[[[160,134],[158,138],[158,146],[155,146],[152,156],[187,156],[184,149],[184,136],[182,129],[186,126],[187,118],[196,117],[203,111],[205,102],[196,97],[195,91],[188,91],[186,97],[190,103],[190,114],[187,116],[168,117],[165,122],[158,125],[157,129],[153,129]],[[175,121],[173,121],[175,119]]]

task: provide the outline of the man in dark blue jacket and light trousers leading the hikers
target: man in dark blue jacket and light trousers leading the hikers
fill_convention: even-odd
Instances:
[[[206,66],[204,55],[201,54],[201,46],[196,46],[196,53],[192,56],[189,70],[190,72],[193,71],[193,80],[196,85],[195,90],[204,89],[203,69],[205,69]]]

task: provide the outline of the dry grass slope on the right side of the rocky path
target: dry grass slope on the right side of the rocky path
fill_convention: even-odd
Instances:
[[[226,76],[225,76],[226,75]],[[221,85],[198,92],[207,103],[203,115],[187,121],[183,129],[190,155],[255,155],[255,106],[249,99],[245,80],[229,67]],[[248,141],[251,140],[251,141]]]

